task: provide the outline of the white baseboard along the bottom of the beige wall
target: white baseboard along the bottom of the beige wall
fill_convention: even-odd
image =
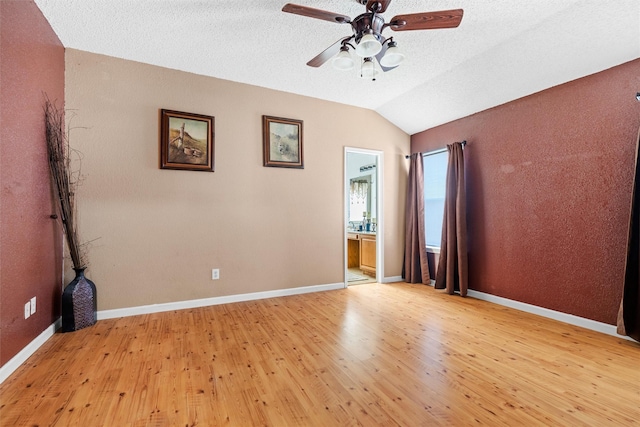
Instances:
[[[184,310],[188,308],[207,307],[210,305],[230,304],[233,302],[253,301],[265,298],[277,298],[290,295],[308,294],[311,292],[344,289],[344,283],[328,285],[303,286],[300,288],[276,289],[273,291],[252,292],[248,294],[228,295],[223,297],[203,298],[189,301],[168,302],[164,304],[142,305],[138,307],[117,308],[98,311],[98,320],[116,317],[137,316],[139,314],[160,313],[163,311]]]

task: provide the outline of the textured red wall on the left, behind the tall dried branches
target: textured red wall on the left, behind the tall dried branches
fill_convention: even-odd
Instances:
[[[60,317],[62,236],[44,95],[64,107],[64,48],[32,1],[0,1],[0,365]],[[25,320],[24,304],[37,297]]]

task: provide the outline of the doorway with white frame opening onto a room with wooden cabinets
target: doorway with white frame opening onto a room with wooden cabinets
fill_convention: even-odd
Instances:
[[[344,286],[384,278],[383,152],[344,150]]]

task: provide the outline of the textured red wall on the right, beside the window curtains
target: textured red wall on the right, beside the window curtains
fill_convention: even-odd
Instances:
[[[615,324],[640,60],[413,135],[465,147],[469,287]]]

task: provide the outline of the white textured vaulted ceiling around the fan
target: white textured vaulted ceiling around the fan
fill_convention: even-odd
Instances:
[[[455,29],[385,29],[407,59],[373,82],[330,62],[308,67],[351,27],[284,13],[286,0],[35,1],[67,48],[372,109],[408,134],[640,58],[638,0],[393,0],[387,21],[457,8],[464,17]]]

